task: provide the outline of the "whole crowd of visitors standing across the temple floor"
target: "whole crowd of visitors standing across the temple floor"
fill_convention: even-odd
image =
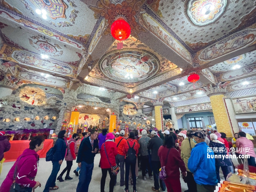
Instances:
[[[3,153],[10,149],[10,143],[4,134],[3,131],[0,132],[0,160],[4,157]],[[49,161],[52,162],[52,172],[44,192],[58,189],[56,178],[63,182],[62,176],[66,172],[65,180],[72,179],[69,174],[74,160],[78,163],[74,173],[79,176],[76,191],[88,192],[93,174],[94,157],[99,151],[101,156],[99,167],[102,172],[101,192],[104,192],[108,173],[110,175],[109,191],[114,191],[119,170],[120,186],[125,185],[124,191],[129,192],[129,184],[132,184],[132,191],[136,192],[138,167],[142,170],[143,180],[147,179],[146,174],[148,179],[154,179],[153,191],[160,192],[167,189],[167,192],[181,192],[181,174],[188,186],[185,192],[213,192],[221,180],[220,168],[225,179],[230,172],[234,173],[233,164],[229,158],[233,147],[237,147],[236,155],[241,162],[244,159],[240,156],[247,154],[250,155],[248,164],[256,167],[253,143],[242,131],[235,133],[231,142],[226,139],[226,134],[223,132],[193,132],[182,129],[168,129],[164,132],[159,132],[157,129],[139,130],[139,132],[133,130],[127,139],[124,138],[124,130],[108,133],[103,129],[99,136],[97,130],[92,130],[82,135],[79,150],[76,152],[76,141],[79,135],[74,133],[67,141],[65,130],[58,133],[54,147],[48,152]],[[17,158],[2,183],[1,192],[9,192],[12,189],[21,191],[19,188],[22,188],[22,191],[31,192],[33,188],[41,187],[40,182],[35,181],[35,177],[39,161],[37,152],[43,146],[44,138],[41,136],[31,138],[29,148]],[[216,151],[211,150],[212,148],[224,150]],[[216,158],[219,155],[224,158]],[[66,167],[57,177],[64,159]]]

